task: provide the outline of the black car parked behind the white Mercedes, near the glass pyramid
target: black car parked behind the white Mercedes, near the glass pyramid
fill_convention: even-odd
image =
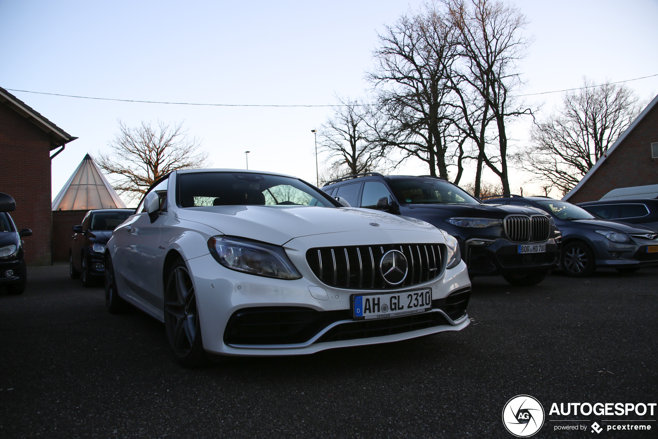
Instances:
[[[103,279],[105,245],[114,228],[134,213],[134,209],[89,211],[82,225],[73,226],[69,250],[69,272],[72,279],[82,278],[84,286],[93,286]]]

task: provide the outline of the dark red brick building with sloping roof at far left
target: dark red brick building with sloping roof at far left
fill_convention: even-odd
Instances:
[[[27,265],[51,265],[51,158],[75,140],[0,88],[0,192],[16,200],[16,226],[25,238]],[[51,157],[51,151],[59,148]]]

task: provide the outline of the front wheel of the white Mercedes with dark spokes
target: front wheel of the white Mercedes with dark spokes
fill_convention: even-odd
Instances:
[[[180,365],[199,367],[206,363],[197,299],[188,267],[182,259],[174,263],[166,283],[164,328]]]

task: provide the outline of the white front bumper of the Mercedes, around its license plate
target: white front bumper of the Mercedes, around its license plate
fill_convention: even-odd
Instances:
[[[303,253],[301,253],[303,254]],[[322,284],[310,269],[303,269],[300,261],[293,263],[300,269],[303,278],[297,280],[279,280],[273,278],[264,278],[230,271],[218,264],[211,255],[188,260],[188,266],[193,274],[195,293],[197,296],[197,306],[199,307],[199,317],[201,319],[201,330],[203,331],[203,347],[210,354],[217,355],[234,355],[234,356],[278,356],[278,355],[303,355],[315,353],[324,349],[341,348],[345,346],[365,346],[377,343],[394,342],[398,340],[407,340],[434,334],[445,330],[461,330],[465,328],[470,321],[465,313],[459,316],[459,319],[452,320],[442,309],[440,305],[428,313],[436,317],[435,324],[412,325],[404,332],[392,333],[388,331],[384,335],[382,331],[376,332],[377,329],[386,328],[366,328],[372,330],[372,336],[368,335],[363,338],[351,340],[340,340],[340,334],[336,337],[336,328],[342,325],[361,323],[363,321],[354,321],[349,317],[349,300],[350,295],[355,292],[371,292],[370,290],[348,290],[344,288],[333,288]],[[309,292],[309,286],[320,286],[328,293],[327,300],[315,299]],[[443,276],[435,278],[430,282],[419,284],[413,289],[432,288],[433,290],[433,308],[434,301],[444,299],[449,294],[457,290],[466,290],[470,288],[470,280],[465,263],[461,262],[457,267],[445,271]],[[402,290],[409,290],[401,288]],[[386,290],[386,293],[395,290]],[[340,320],[336,320],[322,327],[308,340],[294,344],[233,344],[227,343],[225,334],[226,327],[231,317],[241,309],[254,307],[303,307],[311,311],[331,311],[337,314],[344,313]],[[448,311],[449,312],[449,311]],[[381,319],[379,321],[393,322],[405,317],[394,317],[391,319]],[[399,321],[403,323],[403,321]],[[404,323],[406,324],[406,323]],[[390,326],[396,326],[391,324]],[[400,325],[397,325],[400,326]],[[417,328],[416,328],[417,327]],[[348,328],[349,330],[363,330],[364,328]],[[334,332],[332,332],[334,330]],[[344,334],[345,331],[342,331]]]

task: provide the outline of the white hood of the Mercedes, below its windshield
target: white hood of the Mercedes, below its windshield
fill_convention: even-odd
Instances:
[[[439,232],[427,222],[370,209],[314,206],[207,206],[177,209],[176,217],[206,224],[221,234],[283,245],[293,238],[367,230]],[[371,222],[379,226],[370,225]]]

